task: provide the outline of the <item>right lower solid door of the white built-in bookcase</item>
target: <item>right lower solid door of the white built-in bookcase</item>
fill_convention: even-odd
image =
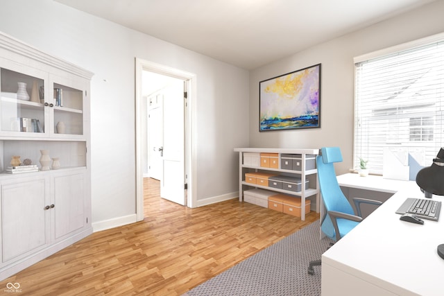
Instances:
[[[52,178],[54,234],[56,241],[80,231],[85,215],[85,173],[60,173]]]

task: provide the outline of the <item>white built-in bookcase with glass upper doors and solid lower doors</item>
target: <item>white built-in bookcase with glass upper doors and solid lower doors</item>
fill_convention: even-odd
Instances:
[[[91,78],[0,33],[0,280],[92,233]],[[60,167],[42,171],[40,150]],[[38,170],[10,168],[12,156]]]

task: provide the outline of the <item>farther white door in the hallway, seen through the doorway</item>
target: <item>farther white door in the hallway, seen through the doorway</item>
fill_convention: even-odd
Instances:
[[[162,180],[163,155],[163,96],[148,98],[148,176]]]

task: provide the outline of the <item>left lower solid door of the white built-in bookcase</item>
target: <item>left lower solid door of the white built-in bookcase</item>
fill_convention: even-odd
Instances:
[[[46,182],[20,180],[1,186],[1,263],[36,252],[49,243]]]

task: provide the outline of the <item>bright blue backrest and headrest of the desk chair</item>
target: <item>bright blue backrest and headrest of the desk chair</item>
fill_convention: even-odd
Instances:
[[[316,157],[316,166],[318,168],[318,180],[321,195],[327,211],[339,211],[345,214],[354,215],[354,211],[350,202],[341,191],[336,173],[334,171],[334,163],[342,162],[341,150],[339,147],[321,148],[321,155]],[[323,220],[322,231],[330,238],[335,238],[332,220],[327,215]]]

